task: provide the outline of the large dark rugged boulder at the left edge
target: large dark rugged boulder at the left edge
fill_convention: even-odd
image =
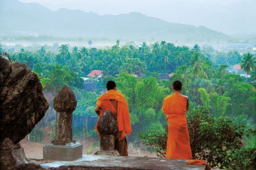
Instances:
[[[37,75],[26,65],[0,57],[0,143],[14,144],[31,132],[49,104]]]

